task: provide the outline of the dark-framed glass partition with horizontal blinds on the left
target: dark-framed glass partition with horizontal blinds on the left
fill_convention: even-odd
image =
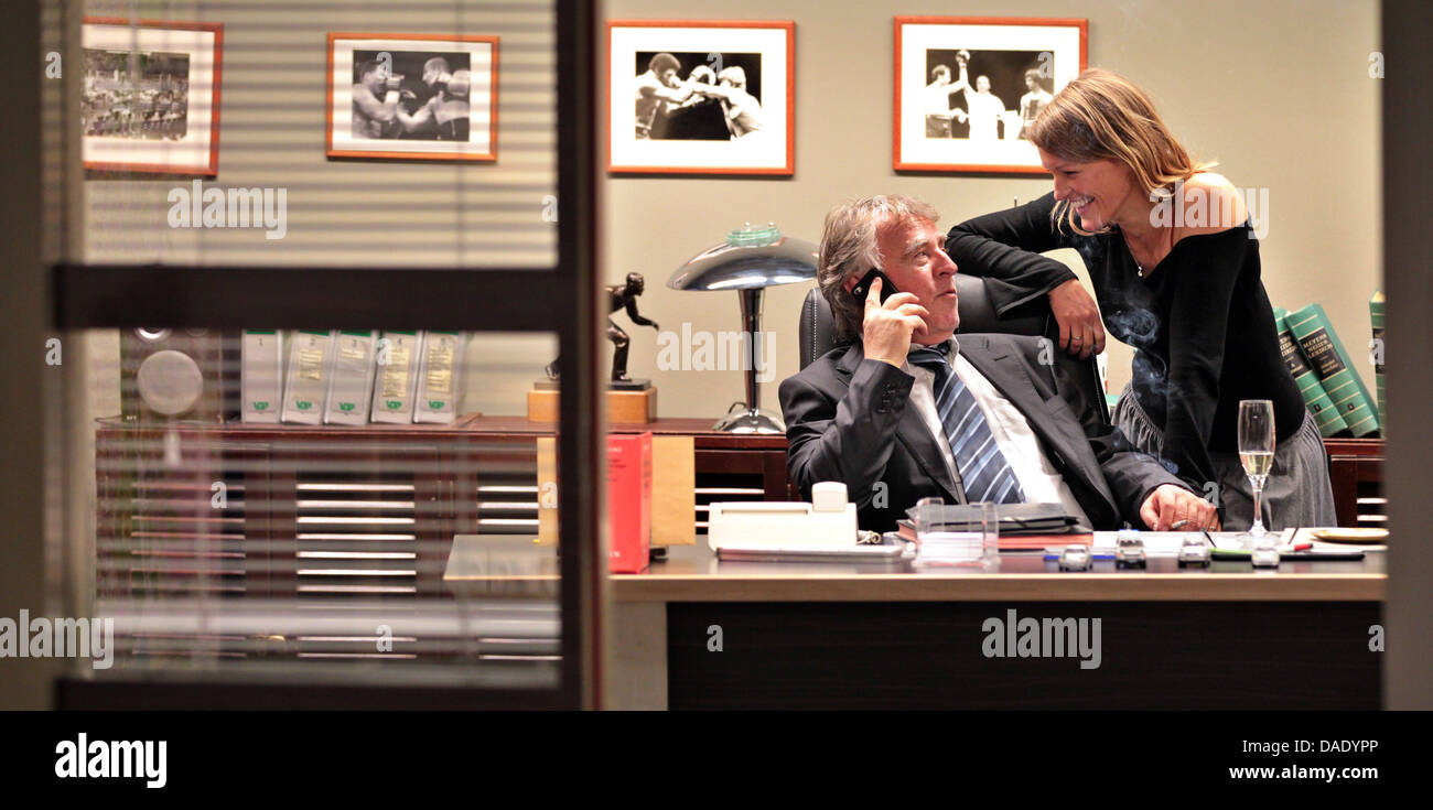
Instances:
[[[576,4],[60,6],[52,556],[97,628],[70,675],[576,700],[537,477],[567,411],[527,403],[582,356],[577,295],[530,301],[580,264]]]

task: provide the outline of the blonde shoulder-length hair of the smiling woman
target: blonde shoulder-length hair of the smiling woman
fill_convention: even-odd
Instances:
[[[1176,182],[1215,165],[1189,156],[1134,82],[1098,67],[1065,85],[1026,129],[1026,138],[1062,161],[1118,161],[1154,198],[1171,196]],[[1091,235],[1080,228],[1069,201],[1058,202],[1052,218],[1062,231],[1069,225],[1076,234]]]

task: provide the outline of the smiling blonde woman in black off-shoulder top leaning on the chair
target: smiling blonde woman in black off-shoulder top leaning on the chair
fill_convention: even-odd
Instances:
[[[1027,136],[1055,192],[952,228],[946,251],[960,271],[999,280],[987,288],[1002,313],[1049,295],[1072,354],[1103,351],[1102,325],[1134,347],[1115,426],[1212,497],[1231,530],[1254,518],[1240,400],[1271,400],[1265,526],[1336,525],[1323,439],[1280,354],[1241,194],[1189,156],[1144,90],[1108,70],[1066,85]],[[1099,308],[1069,268],[1039,255],[1063,247],[1085,259]]]

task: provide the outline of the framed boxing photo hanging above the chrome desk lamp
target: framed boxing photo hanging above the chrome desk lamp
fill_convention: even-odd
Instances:
[[[790,175],[795,23],[608,23],[608,171]]]

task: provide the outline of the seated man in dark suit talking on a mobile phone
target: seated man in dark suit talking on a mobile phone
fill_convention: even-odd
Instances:
[[[900,195],[827,214],[817,280],[851,338],[781,383],[787,466],[804,497],[840,480],[866,529],[891,530],[921,497],[947,503],[1062,503],[1095,529],[1218,528],[1214,505],[1154,457],[1116,446],[1093,413],[1060,396],[1053,347],[1007,334],[963,334],[956,264],[940,215]],[[883,304],[880,268],[898,292]],[[1042,361],[1043,360],[1043,361]]]

